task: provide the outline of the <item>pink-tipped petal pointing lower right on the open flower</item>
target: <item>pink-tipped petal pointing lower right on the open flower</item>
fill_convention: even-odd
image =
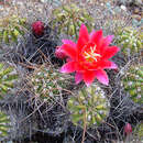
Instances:
[[[96,78],[103,85],[107,85],[109,84],[109,79],[108,79],[108,75],[105,70],[102,69],[99,69],[99,70],[96,70],[95,72],[96,74]]]

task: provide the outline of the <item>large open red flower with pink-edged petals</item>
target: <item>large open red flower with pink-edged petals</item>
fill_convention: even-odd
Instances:
[[[84,79],[89,86],[97,78],[100,82],[108,85],[108,75],[103,69],[117,68],[117,65],[109,58],[119,51],[117,46],[109,46],[112,38],[112,35],[103,37],[101,30],[88,34],[87,28],[82,24],[77,44],[69,40],[63,40],[64,44],[61,50],[69,58],[61,72],[76,72],[76,84]]]

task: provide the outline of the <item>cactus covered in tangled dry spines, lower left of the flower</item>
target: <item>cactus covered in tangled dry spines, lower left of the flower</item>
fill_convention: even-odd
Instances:
[[[40,68],[35,68],[28,80],[36,97],[40,97],[41,100],[53,100],[69,87],[72,76],[61,74],[54,67],[44,64]]]

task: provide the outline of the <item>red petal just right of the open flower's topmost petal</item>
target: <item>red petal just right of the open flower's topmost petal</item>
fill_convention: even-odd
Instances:
[[[94,32],[90,33],[90,42],[91,43],[95,43],[96,45],[98,45],[101,40],[102,40],[102,30],[99,30],[95,33]]]

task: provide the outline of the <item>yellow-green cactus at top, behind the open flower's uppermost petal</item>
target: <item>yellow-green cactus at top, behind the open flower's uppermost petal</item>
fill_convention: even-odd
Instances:
[[[94,19],[86,9],[72,3],[70,6],[64,4],[53,11],[55,19],[53,26],[58,26],[58,32],[67,35],[78,37],[78,31],[81,23],[85,23],[90,32],[94,28]]]

